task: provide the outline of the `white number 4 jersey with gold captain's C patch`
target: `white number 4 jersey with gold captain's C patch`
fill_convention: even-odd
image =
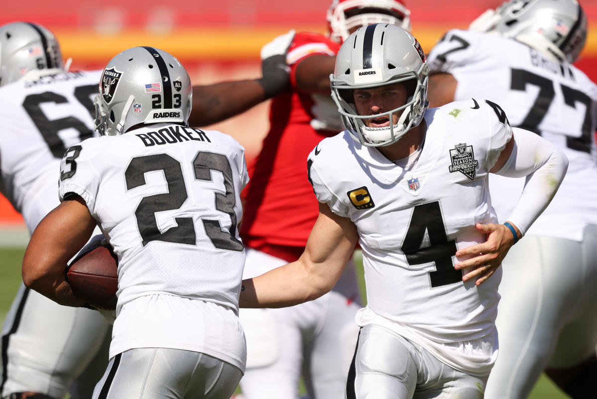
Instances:
[[[454,263],[458,248],[485,241],[476,223],[497,221],[487,174],[512,128],[499,106],[475,100],[429,109],[425,121],[410,170],[344,131],[309,155],[309,178],[319,202],[358,229],[368,302],[359,325],[373,312],[451,366],[488,373],[501,269],[477,287]],[[483,355],[441,353],[444,343],[478,339],[490,346]]]

